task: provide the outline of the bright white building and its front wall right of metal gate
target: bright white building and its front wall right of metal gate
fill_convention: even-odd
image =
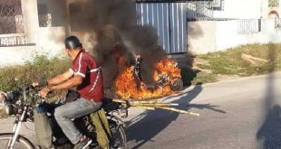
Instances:
[[[189,3],[197,5],[197,9],[189,5],[187,33],[188,51],[195,54],[244,44],[281,42],[279,0]]]

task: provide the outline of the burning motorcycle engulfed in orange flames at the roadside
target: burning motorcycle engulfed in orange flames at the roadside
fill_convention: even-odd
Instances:
[[[135,65],[123,70],[115,79],[116,96],[122,99],[161,98],[177,93],[183,88],[177,62],[163,58],[153,65],[153,82],[147,84],[142,80],[141,58],[137,56]]]

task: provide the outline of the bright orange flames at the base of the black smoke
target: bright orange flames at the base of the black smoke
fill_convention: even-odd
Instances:
[[[168,58],[162,59],[160,62],[155,64],[155,70],[153,72],[154,81],[159,81],[165,78],[165,81],[161,83],[158,88],[150,89],[147,88],[143,82],[140,82],[138,88],[137,80],[133,77],[133,66],[124,70],[116,79],[116,95],[120,98],[159,98],[167,96],[174,91],[171,90],[170,85],[175,79],[180,78],[180,70],[176,66],[175,61],[171,61]]]

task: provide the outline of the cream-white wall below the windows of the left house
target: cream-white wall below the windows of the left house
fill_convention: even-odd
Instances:
[[[0,47],[0,68],[10,65],[21,65],[38,55],[49,58],[61,56],[64,49],[64,27],[38,28],[36,44],[33,46]]]

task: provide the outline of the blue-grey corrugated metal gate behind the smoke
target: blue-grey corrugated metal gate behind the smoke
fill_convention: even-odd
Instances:
[[[138,24],[149,24],[158,33],[166,53],[187,52],[187,14],[185,3],[137,3]]]

